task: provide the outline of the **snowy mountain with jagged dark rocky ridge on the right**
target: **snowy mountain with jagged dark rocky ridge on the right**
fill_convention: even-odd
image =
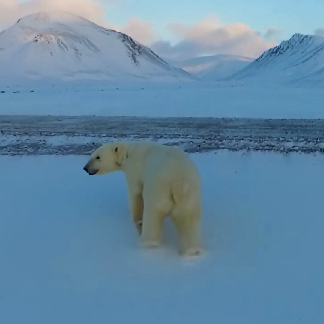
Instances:
[[[294,34],[226,79],[275,83],[324,82],[324,38]]]

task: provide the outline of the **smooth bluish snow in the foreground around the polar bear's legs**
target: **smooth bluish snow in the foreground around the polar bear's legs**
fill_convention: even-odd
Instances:
[[[321,324],[322,155],[192,154],[206,256],[143,250],[124,176],[0,156],[1,323]]]

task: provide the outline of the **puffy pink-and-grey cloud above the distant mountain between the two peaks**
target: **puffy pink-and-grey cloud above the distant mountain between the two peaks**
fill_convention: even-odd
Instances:
[[[179,41],[174,45],[169,41],[157,41],[151,48],[161,56],[173,60],[214,54],[255,58],[277,45],[274,41],[267,42],[246,24],[223,25],[218,19],[212,18],[192,26],[172,23],[168,28]]]

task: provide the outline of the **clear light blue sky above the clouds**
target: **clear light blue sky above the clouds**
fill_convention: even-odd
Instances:
[[[312,34],[315,29],[324,28],[323,0],[123,0],[116,6],[110,6],[110,0],[100,2],[111,23],[124,25],[137,17],[151,22],[165,36],[169,22],[196,24],[209,13],[218,15],[224,24],[243,22],[261,33],[269,28],[279,29],[280,39],[295,32]]]

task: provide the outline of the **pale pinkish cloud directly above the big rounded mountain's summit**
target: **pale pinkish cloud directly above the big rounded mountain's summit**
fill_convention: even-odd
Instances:
[[[92,0],[0,0],[0,30],[17,22],[21,17],[38,11],[62,10],[85,17],[94,23],[104,25],[104,8]]]

